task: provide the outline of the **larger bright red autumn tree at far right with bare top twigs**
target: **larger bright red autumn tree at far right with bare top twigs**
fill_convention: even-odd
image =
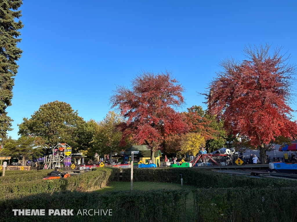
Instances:
[[[204,94],[208,110],[224,120],[229,132],[248,138],[260,149],[261,163],[275,139],[297,135],[289,106],[296,69],[280,54],[280,47],[271,55],[269,49],[267,44],[249,46],[244,49],[247,60],[223,60],[223,71],[210,83],[209,94]]]

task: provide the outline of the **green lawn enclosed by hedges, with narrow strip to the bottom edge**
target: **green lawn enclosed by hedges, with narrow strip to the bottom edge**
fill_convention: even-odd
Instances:
[[[130,190],[130,182],[110,182],[107,186],[97,190],[99,193],[104,193],[106,191],[112,190]],[[188,189],[190,190],[188,199],[187,199],[187,218],[186,220],[193,220],[193,209],[194,209],[194,196],[193,189],[197,189],[195,186],[173,184],[173,183],[161,183],[161,182],[134,182],[133,190],[157,190],[157,189]]]

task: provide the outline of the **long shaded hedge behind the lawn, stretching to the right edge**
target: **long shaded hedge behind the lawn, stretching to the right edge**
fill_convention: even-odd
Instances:
[[[251,178],[247,176],[231,176],[210,170],[195,168],[134,168],[135,182],[181,183],[179,174],[183,174],[183,184],[198,188],[211,187],[288,187],[297,186],[297,181],[277,178]],[[131,169],[124,169],[122,181],[129,182]]]

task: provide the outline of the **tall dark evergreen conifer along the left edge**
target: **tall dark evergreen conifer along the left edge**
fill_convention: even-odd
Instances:
[[[0,139],[12,130],[12,119],[7,116],[6,108],[11,106],[12,87],[18,72],[16,61],[22,50],[17,47],[21,41],[20,30],[23,28],[19,18],[22,16],[18,8],[22,0],[0,0]],[[18,21],[16,21],[17,19]]]

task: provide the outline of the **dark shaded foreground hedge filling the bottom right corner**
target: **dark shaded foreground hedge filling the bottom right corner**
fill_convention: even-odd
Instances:
[[[208,221],[297,221],[297,188],[210,188],[194,193],[194,215]]]

